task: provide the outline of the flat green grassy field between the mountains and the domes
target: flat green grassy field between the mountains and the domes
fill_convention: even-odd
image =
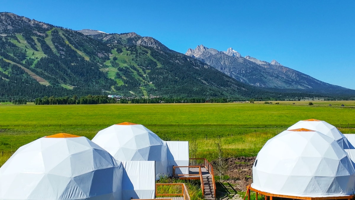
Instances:
[[[255,156],[268,139],[297,121],[310,118],[327,121],[343,133],[355,133],[355,101],[313,101],[313,106],[308,106],[308,101],[295,101],[295,104],[287,101],[279,105],[263,103],[1,103],[0,156],[3,151],[5,158],[0,160],[0,165],[20,146],[45,135],[69,133],[92,139],[99,130],[126,121],[143,124],[162,139],[196,140],[197,156],[209,160],[216,157],[214,144],[219,138],[225,156]]]

